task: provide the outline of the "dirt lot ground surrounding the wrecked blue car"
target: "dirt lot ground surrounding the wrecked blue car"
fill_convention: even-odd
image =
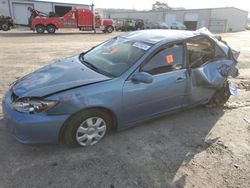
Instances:
[[[113,34],[0,32],[0,99],[17,78]],[[0,109],[0,187],[250,187],[250,31],[223,34],[241,50],[238,97],[108,135],[93,147],[27,146]]]

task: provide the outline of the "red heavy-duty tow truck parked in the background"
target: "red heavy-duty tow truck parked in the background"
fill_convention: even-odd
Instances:
[[[81,31],[103,31],[112,33],[114,31],[113,21],[111,19],[102,19],[100,15],[89,9],[72,9],[63,17],[57,17],[55,14],[45,14],[31,7],[30,27],[37,33],[55,33],[61,28],[78,28]]]

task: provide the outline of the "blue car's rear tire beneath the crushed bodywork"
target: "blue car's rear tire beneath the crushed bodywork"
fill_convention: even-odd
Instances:
[[[224,87],[216,91],[214,96],[210,99],[209,106],[223,106],[230,98],[231,93],[229,89],[229,83],[225,82]]]

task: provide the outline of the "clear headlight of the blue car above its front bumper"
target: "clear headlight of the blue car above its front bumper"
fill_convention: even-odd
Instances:
[[[12,107],[18,112],[34,114],[47,111],[57,103],[57,101],[23,98],[13,102]]]

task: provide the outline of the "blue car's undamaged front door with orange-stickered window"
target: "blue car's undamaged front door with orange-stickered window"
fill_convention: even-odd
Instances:
[[[132,123],[148,119],[185,105],[187,70],[183,44],[159,49],[137,71],[153,76],[152,83],[125,81],[123,87],[123,121]]]

